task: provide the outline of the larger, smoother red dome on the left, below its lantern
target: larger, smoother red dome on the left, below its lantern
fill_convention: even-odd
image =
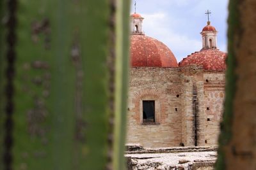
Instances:
[[[132,67],[178,67],[172,51],[157,39],[132,35],[130,48]]]

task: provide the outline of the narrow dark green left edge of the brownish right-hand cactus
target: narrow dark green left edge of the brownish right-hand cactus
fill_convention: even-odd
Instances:
[[[223,113],[223,122],[221,122],[221,134],[219,137],[218,160],[216,162],[216,169],[227,169],[225,167],[225,152],[223,147],[232,138],[232,117],[233,117],[233,102],[236,91],[236,56],[234,53],[234,37],[235,30],[239,27],[239,20],[237,12],[237,1],[230,1],[229,16],[228,16],[228,58],[227,58],[227,73],[226,73],[226,89],[225,89],[225,111]]]

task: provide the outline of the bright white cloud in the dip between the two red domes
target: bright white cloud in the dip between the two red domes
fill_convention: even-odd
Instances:
[[[178,62],[190,53],[201,49],[202,42],[200,39],[190,38],[186,36],[186,34],[177,33],[172,29],[172,25],[179,25],[179,20],[169,17],[164,12],[152,14],[144,13],[142,16],[147,18],[143,23],[145,34],[167,45],[175,54]]]

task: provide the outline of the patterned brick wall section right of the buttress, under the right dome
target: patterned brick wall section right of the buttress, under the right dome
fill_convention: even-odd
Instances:
[[[225,73],[204,74],[205,145],[218,145],[225,94]]]

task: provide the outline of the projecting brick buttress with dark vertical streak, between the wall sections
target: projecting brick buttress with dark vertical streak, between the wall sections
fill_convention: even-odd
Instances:
[[[185,146],[204,146],[204,74],[200,67],[181,69],[182,142]],[[196,116],[196,118],[195,118]]]

